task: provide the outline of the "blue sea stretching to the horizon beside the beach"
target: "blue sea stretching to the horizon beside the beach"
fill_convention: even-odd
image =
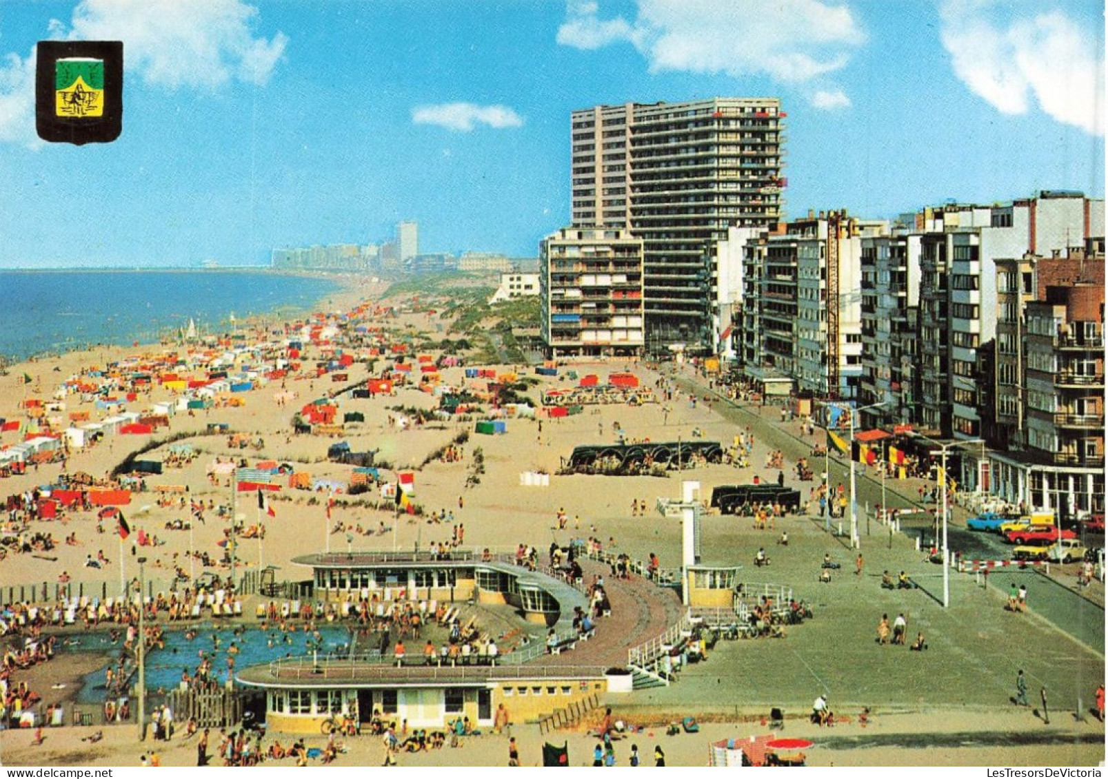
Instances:
[[[340,289],[326,278],[269,270],[0,270],[0,359],[9,362],[96,344],[175,340],[248,316],[319,310]]]

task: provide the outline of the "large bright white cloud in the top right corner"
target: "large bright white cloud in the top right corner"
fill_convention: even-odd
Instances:
[[[1005,114],[1033,102],[1049,116],[1104,135],[1104,56],[1099,42],[1060,11],[1003,20],[1006,4],[946,0],[942,40],[954,73]]]

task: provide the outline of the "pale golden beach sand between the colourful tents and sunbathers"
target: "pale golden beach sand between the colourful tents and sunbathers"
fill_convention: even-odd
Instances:
[[[362,299],[376,300],[382,294],[381,288],[355,283],[342,294],[332,295],[322,310],[328,312],[350,310]],[[410,299],[409,299],[410,300]],[[403,301],[392,301],[403,302]],[[401,314],[380,321],[381,326],[394,332],[432,333],[431,337],[456,337],[449,330],[434,332],[439,320],[428,319],[423,313]],[[240,325],[240,332],[248,333],[249,339],[261,339],[264,334],[253,331],[249,324]],[[122,360],[133,354],[161,354],[160,346],[140,349],[98,349],[91,352],[65,354],[57,359],[35,361],[13,366],[9,375],[0,377],[0,417],[18,418],[22,415],[20,403],[25,397],[49,399],[54,387],[70,375],[76,374],[82,367],[103,366],[109,362]],[[438,353],[435,353],[438,354]],[[321,355],[309,349],[304,356],[305,367],[310,366]],[[382,363],[378,361],[380,366]],[[495,366],[504,372],[512,366]],[[615,370],[632,370],[640,375],[644,384],[653,386],[657,374],[635,362],[611,361],[585,363],[576,366],[579,373],[598,373],[602,376]],[[366,378],[365,363],[356,362],[348,371],[350,383]],[[24,373],[32,376],[30,385],[20,382]],[[466,380],[461,367],[444,368],[442,381],[447,384],[469,386],[483,390],[484,380]],[[316,436],[291,435],[291,417],[300,405],[321,396],[324,393],[341,386],[331,382],[330,376],[302,375],[287,381],[271,382],[243,395],[245,405],[242,407],[212,408],[197,412],[195,416],[178,413],[173,417],[170,430],[174,435],[191,433],[188,440],[198,453],[196,459],[187,467],[167,469],[161,476],[151,476],[147,482],[151,491],[136,494],[129,507],[123,507],[131,526],[132,536],[124,544],[123,565],[125,577],[137,575],[136,558],[143,554],[148,558],[145,575],[152,582],[155,591],[165,590],[172,578],[175,564],[188,570],[187,553],[189,551],[189,533],[187,531],[166,530],[165,524],[174,519],[188,519],[188,509],[179,506],[158,507],[154,488],[158,485],[184,485],[188,487],[188,497],[195,500],[224,503],[230,500],[229,484],[223,477],[216,484],[209,482],[206,469],[217,457],[247,457],[253,465],[260,458],[274,459],[278,463],[289,463],[297,470],[307,470],[314,479],[346,482],[349,479],[350,467],[328,463],[327,447],[335,439]],[[536,377],[538,388],[566,386],[570,384],[563,376],[560,378]],[[285,405],[275,402],[279,392],[293,392],[296,399]],[[533,397],[537,391],[532,391]],[[152,393],[141,396],[136,403],[127,407],[142,411],[151,403],[167,399],[171,394],[155,386]],[[66,409],[62,414],[74,411],[89,411],[91,418],[103,417],[103,412],[96,412],[91,403],[79,403],[79,396],[65,398]],[[656,552],[663,561],[663,568],[676,567],[680,558],[680,533],[677,526],[666,523],[653,510],[658,497],[679,497],[679,480],[676,475],[668,478],[656,477],[598,477],[573,476],[551,477],[550,487],[532,487],[521,485],[521,474],[524,471],[545,471],[556,474],[561,458],[566,457],[578,444],[614,442],[614,423],[618,423],[628,439],[650,438],[653,440],[693,440],[702,438],[730,443],[739,427],[733,422],[722,418],[709,404],[694,404],[688,396],[680,396],[666,404],[646,404],[640,407],[597,406],[586,408],[585,413],[562,419],[543,419],[542,430],[534,419],[507,419],[506,435],[483,436],[473,434],[473,422],[445,420],[431,423],[414,429],[403,429],[390,424],[390,417],[396,418],[402,412],[394,406],[432,409],[437,398],[417,388],[403,387],[397,390],[393,397],[377,397],[366,401],[342,398],[339,402],[339,415],[343,412],[358,411],[365,414],[365,422],[349,425],[343,440],[348,440],[353,450],[378,449],[378,460],[386,461],[391,467],[383,471],[387,480],[396,479],[396,471],[413,469],[416,471],[414,502],[422,507],[425,513],[431,511],[452,511],[456,523],[464,524],[466,548],[481,549],[490,547],[497,551],[512,551],[520,542],[526,542],[544,550],[551,541],[560,544],[568,543],[571,538],[599,538],[606,548],[615,547],[627,551],[635,559],[645,559],[649,552]],[[208,423],[225,423],[235,433],[245,433],[265,440],[260,451],[252,449],[232,449],[227,446],[226,435],[204,435]],[[431,453],[450,443],[462,433],[470,433],[464,445],[464,457],[456,463],[434,460],[424,464]],[[158,432],[154,436],[109,436],[103,442],[89,449],[73,453],[66,464],[69,472],[84,471],[93,477],[105,477],[135,448],[145,445],[151,438],[164,438],[166,433]],[[11,444],[20,439],[12,433],[3,434],[0,444]],[[469,485],[472,475],[473,454],[480,447],[485,460],[485,472],[480,476],[480,482]],[[164,451],[165,447],[155,450],[154,455]],[[765,455],[765,448],[756,450],[756,461]],[[0,491],[4,494],[30,490],[38,485],[54,481],[61,472],[59,464],[42,465],[29,470],[25,476],[0,480]],[[684,478],[695,477],[701,481],[704,495],[710,492],[710,487],[718,484],[735,484],[749,480],[750,472],[737,472],[724,465],[711,465],[697,469],[695,474]],[[767,472],[766,476],[776,476]],[[808,485],[801,486],[807,495]],[[249,492],[237,496],[237,510],[247,524],[256,522],[259,517],[255,496]],[[267,565],[277,567],[278,581],[301,580],[308,575],[308,569],[298,568],[291,559],[299,554],[322,551],[327,546],[332,549],[346,549],[348,532],[349,542],[355,550],[411,550],[417,544],[427,548],[431,541],[449,541],[452,528],[449,524],[432,524],[425,517],[416,518],[401,515],[396,518],[391,507],[372,509],[366,506],[367,499],[377,501],[376,492],[361,496],[336,496],[331,523],[342,523],[340,533],[329,532],[324,494],[281,489],[271,505],[276,518],[266,519],[267,528],[264,546],[259,549],[256,541],[243,541],[238,549],[239,571],[257,568],[259,557],[264,555]],[[461,502],[460,502],[461,500]],[[630,517],[632,501],[643,501],[652,507],[649,519]],[[570,517],[565,530],[556,530],[556,513],[564,509]],[[206,550],[213,558],[220,555],[216,546],[223,538],[223,522],[216,520],[209,512],[203,524],[196,524],[192,533],[192,543],[196,550]],[[82,585],[84,592],[100,594],[105,592],[115,595],[120,591],[120,542],[112,521],[104,522],[104,532],[98,533],[95,512],[70,512],[62,521],[40,522],[32,530],[51,531],[61,541],[65,536],[75,532],[76,546],[60,543],[44,557],[57,560],[34,559],[27,554],[9,554],[0,561],[0,590],[7,598],[13,593],[20,600],[21,588],[25,594],[30,588],[41,590],[43,586],[53,592],[58,577],[66,571],[74,585]],[[376,530],[384,523],[387,531]],[[369,531],[365,534],[353,532],[358,526]],[[817,559],[825,543],[822,531],[808,524],[797,524],[793,547],[806,550],[804,553]],[[137,549],[134,542],[142,529],[157,537],[162,546]],[[752,554],[757,544],[771,543],[771,536],[752,536],[742,523],[740,528],[732,518],[705,519],[704,548],[706,559],[711,562],[733,561],[741,555],[743,562]],[[897,549],[907,550],[907,544],[897,541]],[[753,544],[753,546],[751,546]],[[809,544],[807,548],[804,544]],[[741,548],[741,551],[739,549]],[[890,542],[892,548],[892,542]],[[102,550],[111,560],[104,569],[83,567],[88,554],[95,557]],[[797,552],[800,554],[801,552]],[[899,552],[901,554],[907,551]],[[783,554],[783,552],[782,552]],[[201,567],[196,564],[197,574]],[[224,574],[226,569],[213,569]],[[806,574],[807,575],[807,574]],[[812,575],[814,581],[814,575]],[[811,589],[807,583],[806,586]],[[798,629],[799,630],[799,629]],[[866,627],[866,631],[869,627]],[[724,656],[722,654],[720,655]],[[81,663],[84,663],[82,659]],[[89,661],[91,662],[91,659]],[[728,661],[731,662],[731,661]],[[740,663],[741,661],[735,661]],[[1102,657],[1100,658],[1102,666]],[[80,668],[70,658],[66,661],[64,678],[55,675],[54,663],[40,666],[19,678],[33,679],[35,688],[43,695],[47,703],[64,700],[71,697],[74,677],[80,676]],[[1102,671],[1102,667],[1101,667]],[[691,672],[689,672],[691,673]],[[60,690],[51,689],[52,684],[65,684]],[[680,699],[681,682],[666,690],[670,697],[659,704],[660,710],[675,708],[669,700]],[[1091,683],[1095,686],[1095,682]],[[810,700],[810,684],[799,684],[791,703]],[[696,705],[697,687],[690,685],[687,700]],[[1091,692],[1091,688],[1089,689]],[[996,694],[995,690],[993,694]],[[637,697],[636,697],[637,696]],[[675,697],[676,696],[676,697]],[[979,697],[979,696],[971,696]],[[633,700],[653,700],[650,696],[632,694]],[[1003,695],[998,695],[1003,700]],[[759,710],[757,700],[747,714]],[[1032,728],[1037,723],[1030,720],[1025,712],[997,710],[967,707],[966,702],[958,699],[956,705],[941,706],[932,700],[901,702],[903,713],[878,717],[875,724],[862,731],[856,725],[837,728],[834,736],[845,735],[852,728],[853,735],[864,734],[1018,734]],[[618,705],[618,702],[617,702]],[[645,706],[645,708],[643,708]],[[729,706],[707,703],[708,710],[728,710]],[[648,710],[649,704],[637,704],[633,710]],[[798,706],[793,705],[793,712]],[[642,716],[636,714],[636,716]],[[1058,718],[1060,719],[1060,717]],[[925,749],[920,747],[883,746],[882,744],[863,742],[851,746],[839,744],[834,749],[813,748],[809,751],[810,765],[1096,765],[1104,759],[1104,727],[1095,723],[1075,723],[1051,725],[1051,735],[1061,740],[1070,735],[1100,740],[1095,744],[1030,744],[1020,746],[1018,739],[1003,746],[979,746],[973,739],[965,744],[950,744],[943,748]],[[814,740],[824,733],[813,733],[812,726],[803,721],[790,723],[788,735],[812,736]],[[25,731],[4,731],[0,734],[0,747],[3,760],[8,765],[137,765],[138,756],[152,745],[142,745],[135,739],[135,728],[120,726],[104,728],[105,738],[96,745],[89,745],[81,739],[90,735],[90,728],[60,728],[48,731],[45,744],[39,747],[30,746],[31,734]],[[762,733],[757,724],[750,723],[717,723],[706,721],[701,733],[665,737],[661,730],[654,736],[639,738],[638,747],[644,765],[653,765],[650,755],[654,744],[660,742],[667,752],[669,765],[702,766],[706,762],[707,744],[712,739],[746,737],[753,733]],[[540,736],[537,727],[519,725],[514,730],[521,739],[524,765],[534,764],[541,751],[541,742],[547,738]],[[1098,735],[1098,736],[1097,736]],[[636,735],[638,736],[638,735]],[[551,740],[567,739],[571,745],[573,765],[591,761],[593,741],[583,733],[570,731],[554,734]],[[984,738],[984,737],[983,737]],[[283,739],[286,744],[290,738]],[[319,739],[316,739],[319,740]],[[987,739],[984,739],[987,741]],[[267,739],[268,742],[268,739]],[[617,748],[620,765],[626,760],[627,741],[622,741]],[[309,746],[311,744],[309,742]],[[338,765],[379,765],[381,745],[377,739],[357,738],[351,740],[351,751],[341,757]],[[213,737],[212,749],[217,747]],[[461,750],[443,749],[419,756],[401,756],[401,765],[505,765],[506,737],[483,736],[474,738]],[[195,765],[194,747],[182,740],[175,740],[161,752],[163,765]],[[286,761],[287,764],[288,761]]]

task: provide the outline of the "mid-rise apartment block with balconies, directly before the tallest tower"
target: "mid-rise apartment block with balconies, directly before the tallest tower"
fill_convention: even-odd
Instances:
[[[643,239],[567,227],[540,246],[541,334],[551,357],[638,354],[644,345]]]

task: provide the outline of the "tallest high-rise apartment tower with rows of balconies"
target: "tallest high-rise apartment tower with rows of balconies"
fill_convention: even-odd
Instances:
[[[727,325],[714,246],[780,219],[784,116],[777,98],[741,97],[573,112],[572,225],[643,239],[652,350],[716,352]]]

